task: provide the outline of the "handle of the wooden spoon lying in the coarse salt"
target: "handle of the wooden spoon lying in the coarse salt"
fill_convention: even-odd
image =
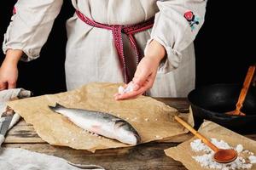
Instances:
[[[212,150],[214,150],[214,152],[217,152],[219,149],[212,144],[212,142],[210,142],[206,137],[204,137],[201,133],[197,132],[195,130],[195,128],[191,127],[187,122],[184,122],[181,118],[179,118],[178,116],[174,116],[174,119],[179,122],[180,124],[183,125],[183,127],[186,127],[191,133],[195,134],[195,136],[199,139],[201,139],[201,141],[205,144],[207,144],[207,146],[209,146]]]

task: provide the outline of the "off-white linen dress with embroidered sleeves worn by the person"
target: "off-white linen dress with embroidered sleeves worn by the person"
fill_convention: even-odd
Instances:
[[[166,48],[166,59],[158,69],[152,89],[153,97],[186,97],[195,88],[195,54],[193,41],[200,30],[206,11],[204,0],[72,0],[92,20],[102,24],[131,25],[155,16],[152,31],[135,35],[143,54],[152,39]],[[17,13],[5,34],[3,52],[8,48],[25,52],[23,60],[39,56],[62,0],[19,0]],[[184,14],[191,11],[194,19]],[[67,89],[78,88],[88,82],[123,82],[119,57],[112,32],[86,25],[76,14],[67,20],[66,81]],[[127,67],[132,77],[136,71],[135,53],[127,37],[124,39]],[[147,49],[147,48],[146,48]]]

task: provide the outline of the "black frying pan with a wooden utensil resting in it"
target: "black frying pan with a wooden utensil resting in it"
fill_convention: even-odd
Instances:
[[[226,111],[236,109],[241,91],[238,84],[213,84],[192,90],[189,103],[192,107],[195,128],[200,127],[203,119],[216,122],[236,133],[256,133],[256,88],[250,87],[241,111],[247,116],[229,116]]]

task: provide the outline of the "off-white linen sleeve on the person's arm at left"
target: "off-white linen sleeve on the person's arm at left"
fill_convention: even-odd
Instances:
[[[11,49],[24,52],[21,60],[39,57],[63,0],[18,0],[3,39],[3,53]]]

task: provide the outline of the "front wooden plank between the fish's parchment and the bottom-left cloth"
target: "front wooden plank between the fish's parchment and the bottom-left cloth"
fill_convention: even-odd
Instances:
[[[68,147],[49,144],[3,144],[3,147],[23,148],[52,156],[59,156],[67,161],[79,164],[97,164],[109,170],[143,169],[186,169],[180,162],[167,157],[164,150],[177,144],[140,144],[136,147],[96,150],[73,150]]]

